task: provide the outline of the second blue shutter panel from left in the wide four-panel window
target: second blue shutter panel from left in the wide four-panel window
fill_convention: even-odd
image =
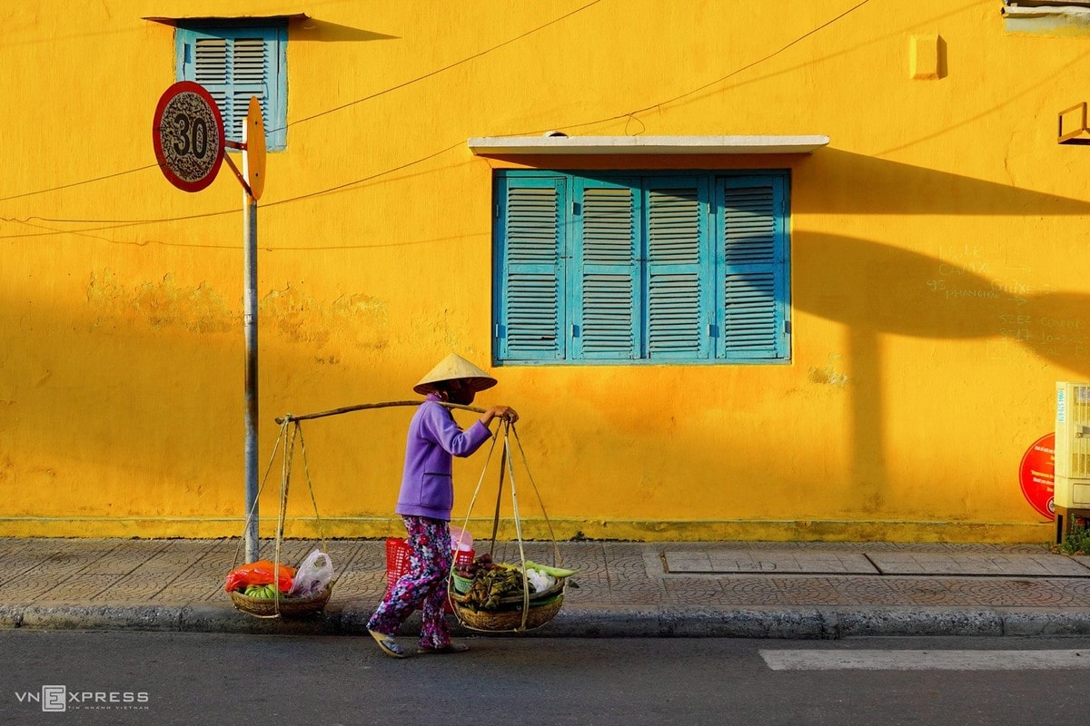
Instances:
[[[574,334],[583,359],[640,354],[639,186],[629,180],[577,179],[572,197]]]

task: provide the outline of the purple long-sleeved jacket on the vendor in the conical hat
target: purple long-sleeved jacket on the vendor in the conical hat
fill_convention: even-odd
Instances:
[[[492,432],[480,420],[462,431],[438,401],[438,396],[428,395],[409,424],[396,512],[450,521],[455,505],[452,456],[469,456],[492,438]]]

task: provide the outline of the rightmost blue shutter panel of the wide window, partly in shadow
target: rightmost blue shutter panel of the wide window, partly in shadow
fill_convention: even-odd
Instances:
[[[723,255],[718,355],[728,359],[786,358],[785,179],[727,177],[717,186],[716,196],[723,205],[717,230]]]

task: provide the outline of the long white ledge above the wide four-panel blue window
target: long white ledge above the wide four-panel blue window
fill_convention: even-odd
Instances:
[[[509,155],[811,153],[828,136],[474,136],[482,157]]]

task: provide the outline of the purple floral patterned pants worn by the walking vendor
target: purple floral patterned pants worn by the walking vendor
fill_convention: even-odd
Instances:
[[[443,616],[447,598],[447,576],[450,574],[450,530],[443,519],[404,517],[409,532],[409,571],[393,585],[375,614],[367,629],[386,636],[397,635],[398,628],[423,603],[424,627],[421,648],[446,648],[450,631]]]

